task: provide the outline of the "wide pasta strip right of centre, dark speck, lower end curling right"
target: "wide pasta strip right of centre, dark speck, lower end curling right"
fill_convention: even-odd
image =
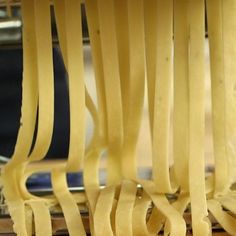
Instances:
[[[169,175],[172,86],[172,1],[157,1],[156,81],[153,120],[153,180],[160,193],[173,193]],[[154,49],[153,49],[154,50]]]

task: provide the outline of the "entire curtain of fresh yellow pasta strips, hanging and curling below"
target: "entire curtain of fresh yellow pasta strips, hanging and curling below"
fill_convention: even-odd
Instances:
[[[85,85],[81,4],[86,9],[97,105]],[[43,160],[54,124],[51,5],[67,71],[70,108],[69,153],[56,164]],[[207,0],[206,4],[204,0],[21,0],[21,9],[21,126],[14,154],[1,173],[14,232],[52,235],[50,213],[57,207],[69,235],[86,235],[82,204],[89,212],[91,235],[186,235],[187,210],[193,235],[212,234],[211,215],[227,233],[236,235],[232,187],[236,181],[235,0]],[[205,12],[215,168],[209,175],[204,153]],[[152,146],[150,180],[139,177],[137,164],[145,84]],[[87,146],[86,109],[94,125]],[[103,155],[107,179],[101,188]],[[26,181],[45,171],[51,174],[53,195],[33,195]],[[72,193],[66,175],[79,171],[85,191]]]

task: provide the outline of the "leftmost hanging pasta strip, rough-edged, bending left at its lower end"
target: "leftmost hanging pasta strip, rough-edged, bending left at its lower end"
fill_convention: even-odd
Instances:
[[[32,1],[23,0],[22,16],[23,27],[23,85],[22,85],[22,108],[21,121],[17,136],[14,154],[5,169],[13,165],[20,165],[27,160],[35,129],[38,84],[37,84],[37,52],[35,35],[34,4]],[[15,168],[17,169],[17,168]]]

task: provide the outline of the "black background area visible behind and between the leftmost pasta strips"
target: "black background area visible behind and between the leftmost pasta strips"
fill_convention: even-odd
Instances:
[[[69,105],[66,71],[60,51],[53,49],[55,123],[47,157],[66,157],[68,152]],[[20,125],[22,96],[22,48],[0,49],[0,155],[13,154]]]

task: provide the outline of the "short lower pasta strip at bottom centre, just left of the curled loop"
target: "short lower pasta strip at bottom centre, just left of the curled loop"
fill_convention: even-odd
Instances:
[[[121,184],[120,196],[116,208],[115,229],[117,236],[132,236],[132,213],[136,199],[137,185],[130,180]]]

